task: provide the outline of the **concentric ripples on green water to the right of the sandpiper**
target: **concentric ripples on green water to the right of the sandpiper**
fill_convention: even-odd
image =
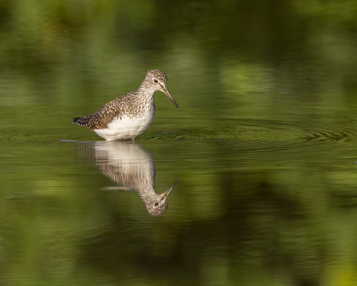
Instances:
[[[256,152],[265,149],[291,150],[296,148],[316,148],[326,144],[352,143],[356,144],[357,128],[331,130],[323,129],[321,126],[298,126],[279,121],[258,120],[226,120],[225,130],[212,133],[201,131],[197,133],[160,134],[158,136],[141,136],[140,140],[165,139],[178,140],[200,140],[200,144],[176,143],[175,148],[190,148],[191,151],[202,148],[206,143],[214,143],[216,146],[227,146],[227,148],[239,148],[245,151]],[[320,129],[321,128],[321,129]],[[309,130],[310,129],[310,130]]]

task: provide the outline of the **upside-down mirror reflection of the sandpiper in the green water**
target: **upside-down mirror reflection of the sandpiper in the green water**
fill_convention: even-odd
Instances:
[[[155,192],[155,162],[152,155],[135,142],[98,141],[93,143],[95,165],[118,187],[135,191],[145,203],[147,212],[162,215],[167,209],[167,197],[178,179],[164,193]],[[108,188],[107,188],[108,189]]]

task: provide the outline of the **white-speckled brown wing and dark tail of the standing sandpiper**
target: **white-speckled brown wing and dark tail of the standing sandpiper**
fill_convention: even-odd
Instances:
[[[96,113],[91,115],[81,116],[73,118],[72,123],[76,123],[82,126],[86,126],[89,129],[103,129],[106,128],[108,123],[110,123],[114,117],[120,116],[120,114],[125,113],[125,104],[127,97],[130,97],[134,92],[129,92],[121,97],[118,97],[111,102],[105,104]]]

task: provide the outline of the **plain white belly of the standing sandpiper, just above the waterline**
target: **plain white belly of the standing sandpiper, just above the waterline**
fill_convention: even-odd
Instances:
[[[107,125],[107,128],[94,129],[105,140],[114,141],[120,139],[134,139],[149,127],[154,115],[149,118],[122,117],[115,119]]]

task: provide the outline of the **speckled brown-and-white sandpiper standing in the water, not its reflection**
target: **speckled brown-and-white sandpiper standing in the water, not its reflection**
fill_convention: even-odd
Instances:
[[[73,118],[72,123],[88,127],[105,140],[134,139],[154,119],[156,90],[164,92],[178,107],[166,89],[166,82],[166,74],[161,70],[149,70],[137,90],[108,102],[96,113]]]

